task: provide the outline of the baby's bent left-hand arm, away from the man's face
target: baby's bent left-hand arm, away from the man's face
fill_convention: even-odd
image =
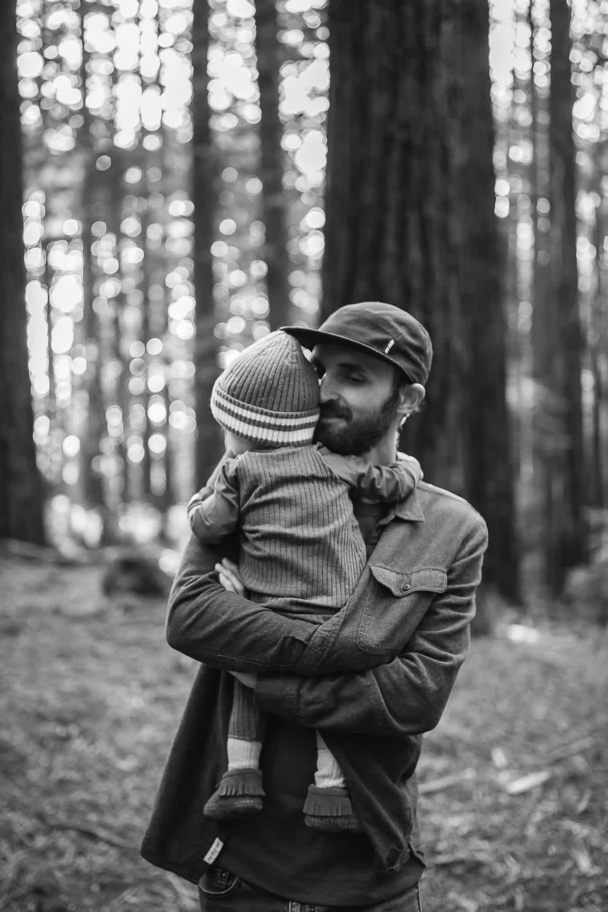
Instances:
[[[239,521],[238,457],[223,457],[219,471],[188,503],[188,522],[201,542],[216,544]]]

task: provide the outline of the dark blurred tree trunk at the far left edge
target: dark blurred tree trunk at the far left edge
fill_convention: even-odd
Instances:
[[[15,5],[0,5],[0,536],[43,544],[43,490],[36,467],[27,368],[26,271]]]

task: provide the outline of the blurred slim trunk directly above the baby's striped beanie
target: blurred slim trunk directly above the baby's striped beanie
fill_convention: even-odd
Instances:
[[[281,49],[277,39],[278,17],[275,0],[255,4],[255,49],[258,88],[260,89],[260,177],[262,179],[262,220],[265,228],[262,258],[268,272],[266,290],[270,306],[269,322],[278,329],[290,322],[287,282],[287,217],[283,191],[283,123],[279,117],[279,68]]]

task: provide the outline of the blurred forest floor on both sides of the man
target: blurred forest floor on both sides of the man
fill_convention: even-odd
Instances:
[[[2,912],[198,908],[138,854],[194,663],[101,573],[0,551]],[[606,630],[473,641],[419,766],[425,912],[608,910],[607,696]]]

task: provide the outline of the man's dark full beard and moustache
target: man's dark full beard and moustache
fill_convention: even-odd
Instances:
[[[363,456],[379,443],[395,420],[395,409],[399,401],[399,389],[393,389],[379,411],[369,412],[354,419],[350,409],[337,402],[326,402],[321,406],[321,417],[314,432],[314,440],[323,443],[328,450],[341,456]],[[336,427],[334,422],[325,423],[324,418],[341,418],[343,423]]]

